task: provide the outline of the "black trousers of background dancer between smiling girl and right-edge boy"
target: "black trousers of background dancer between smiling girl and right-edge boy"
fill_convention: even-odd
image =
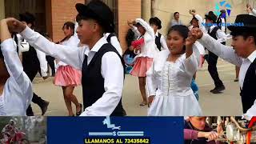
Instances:
[[[218,77],[218,56],[209,51],[209,54],[205,55],[205,59],[208,62],[208,71],[210,73],[211,78],[213,78],[214,80],[215,87],[223,86],[222,80]]]

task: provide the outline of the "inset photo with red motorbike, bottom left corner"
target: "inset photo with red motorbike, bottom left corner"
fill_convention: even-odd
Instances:
[[[46,144],[45,117],[0,117],[0,144]]]

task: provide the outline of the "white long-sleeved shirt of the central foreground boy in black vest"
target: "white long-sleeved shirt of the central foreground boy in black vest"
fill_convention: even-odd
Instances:
[[[34,48],[42,50],[46,54],[58,58],[78,70],[82,70],[82,62],[85,58],[85,54],[88,57],[87,62],[89,64],[94,54],[103,44],[107,43],[106,38],[102,37],[90,50],[88,46],[86,46],[86,48],[78,48],[75,46],[71,47],[55,44],[54,42],[48,41],[37,32],[34,32],[29,27],[26,27],[21,34]],[[82,116],[107,116],[112,114],[122,97],[123,73],[122,62],[118,54],[107,52],[102,56],[102,77],[104,78],[104,88],[106,92],[102,95],[102,98],[99,98],[92,106],[87,107],[81,114]]]

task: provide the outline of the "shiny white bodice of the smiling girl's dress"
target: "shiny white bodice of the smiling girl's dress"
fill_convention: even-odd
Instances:
[[[175,91],[176,95],[190,94],[191,78],[198,68],[199,52],[197,47],[193,46],[193,54],[190,58],[186,58],[186,54],[182,54],[176,62],[172,62],[172,72],[170,73],[171,86],[168,86]],[[162,50],[158,53],[158,57],[154,58],[153,66],[147,71],[146,84],[148,96],[162,94],[162,90],[166,86],[163,86],[164,80],[162,79],[162,71],[165,67],[166,60],[170,54],[169,50]],[[167,70],[168,71],[168,70]],[[158,90],[157,90],[158,88]],[[168,91],[168,90],[167,90]]]

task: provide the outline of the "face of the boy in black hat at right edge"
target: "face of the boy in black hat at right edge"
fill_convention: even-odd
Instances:
[[[242,58],[248,57],[248,46],[254,44],[254,38],[252,36],[244,39],[243,36],[238,35],[233,37],[233,41],[231,43],[231,46],[234,48],[234,53],[238,54],[238,56]]]

